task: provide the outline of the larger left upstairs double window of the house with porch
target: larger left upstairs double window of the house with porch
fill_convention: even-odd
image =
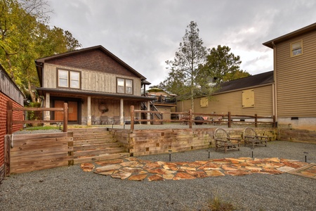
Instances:
[[[80,72],[58,70],[58,87],[80,89]]]

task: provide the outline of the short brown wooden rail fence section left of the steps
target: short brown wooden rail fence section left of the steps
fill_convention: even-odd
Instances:
[[[13,120],[13,111],[15,110],[25,110],[25,111],[61,111],[63,113],[63,120]],[[63,132],[67,132],[68,127],[68,104],[64,103],[63,108],[13,108],[13,103],[8,101],[7,103],[7,134],[12,134],[13,124],[36,124],[36,123],[48,123],[48,122],[62,122]]]

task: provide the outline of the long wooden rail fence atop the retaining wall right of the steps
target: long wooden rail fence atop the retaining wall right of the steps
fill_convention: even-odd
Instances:
[[[174,114],[177,115],[178,118],[176,120],[136,120],[136,113],[141,114],[149,114],[150,116],[154,113],[164,115],[164,114]],[[140,116],[140,115],[139,115]],[[195,117],[202,117],[199,119],[195,119]],[[234,120],[239,121],[234,121]],[[250,120],[250,121],[245,121]],[[265,121],[263,121],[265,120]],[[134,129],[135,122],[185,122],[185,124],[189,125],[189,128],[192,128],[192,124],[227,124],[228,127],[232,127],[232,124],[254,124],[255,127],[258,127],[258,124],[272,124],[272,127],[276,127],[275,116],[258,116],[258,115],[232,115],[230,112],[228,114],[214,114],[214,113],[192,113],[192,110],[188,112],[161,112],[161,111],[153,111],[153,110],[135,110],[134,106],[131,106],[131,130]]]

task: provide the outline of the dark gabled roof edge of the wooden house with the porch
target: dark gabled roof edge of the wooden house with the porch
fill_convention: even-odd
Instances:
[[[43,72],[43,68],[44,68],[44,63],[48,62],[49,60],[55,60],[55,59],[58,59],[58,58],[65,58],[67,56],[74,56],[74,55],[77,55],[79,53],[86,53],[88,51],[95,51],[95,50],[100,50],[103,53],[105,53],[107,56],[110,56],[110,58],[112,58],[113,60],[117,61],[117,63],[122,65],[124,68],[126,68],[129,71],[131,71],[137,77],[140,77],[140,79],[142,81],[146,79],[139,72],[137,72],[136,70],[131,68],[131,66],[129,66],[126,63],[124,63],[123,60],[119,59],[113,53],[111,53],[110,51],[105,49],[103,46],[99,45],[99,46],[92,46],[92,47],[89,47],[89,48],[86,48],[86,49],[79,49],[79,50],[75,50],[75,51],[69,51],[69,52],[66,52],[66,53],[60,53],[60,54],[56,54],[56,55],[53,55],[53,56],[47,56],[47,57],[44,57],[44,58],[38,58],[37,60],[35,60],[35,64],[36,64],[36,67],[37,67],[37,75],[39,76],[39,83],[41,84],[41,87],[42,87],[42,77],[43,77],[43,73],[42,72]]]

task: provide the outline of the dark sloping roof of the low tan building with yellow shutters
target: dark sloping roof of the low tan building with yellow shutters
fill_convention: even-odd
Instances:
[[[220,87],[215,94],[219,94],[226,91],[233,91],[237,89],[245,89],[250,87],[258,87],[261,85],[272,84],[274,82],[273,70],[269,72],[263,72],[258,75],[251,75],[249,77],[243,77],[235,79],[230,82],[223,82],[219,84]]]

